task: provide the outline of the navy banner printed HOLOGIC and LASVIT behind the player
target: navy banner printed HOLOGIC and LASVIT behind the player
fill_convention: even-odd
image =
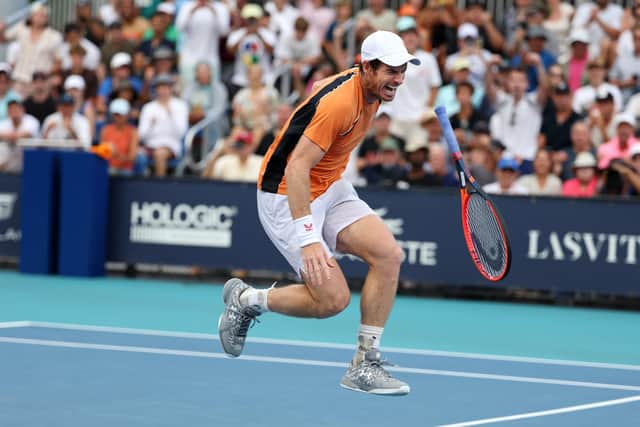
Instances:
[[[202,180],[112,179],[108,259],[289,271],[256,212],[255,186]],[[403,248],[401,276],[435,285],[510,286],[640,295],[640,203],[498,197],[511,238],[506,280],[475,270],[462,235],[457,190],[359,190]],[[340,257],[349,277],[366,265]]]

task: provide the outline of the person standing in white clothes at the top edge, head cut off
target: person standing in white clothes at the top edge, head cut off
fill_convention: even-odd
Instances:
[[[213,79],[221,81],[218,46],[229,32],[229,19],[223,2],[193,0],[182,5],[176,29],[182,39],[179,67],[184,84],[193,81],[195,67],[202,61],[209,61]]]

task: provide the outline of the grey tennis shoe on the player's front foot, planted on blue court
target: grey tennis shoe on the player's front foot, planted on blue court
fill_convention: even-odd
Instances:
[[[350,366],[342,377],[340,386],[363,393],[382,395],[408,394],[409,384],[393,378],[382,366],[388,364],[380,357],[380,352],[370,350],[358,365]]]

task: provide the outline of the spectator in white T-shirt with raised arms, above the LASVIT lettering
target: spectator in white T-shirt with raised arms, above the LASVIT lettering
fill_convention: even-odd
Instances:
[[[487,79],[487,95],[496,106],[489,126],[491,136],[507,147],[522,174],[533,171],[533,158],[538,149],[538,134],[542,124],[542,106],[547,98],[546,72],[540,56],[530,53],[530,61],[538,67],[540,84],[536,92],[527,93],[528,78],[523,68],[509,72],[507,91],[496,90],[493,79]]]

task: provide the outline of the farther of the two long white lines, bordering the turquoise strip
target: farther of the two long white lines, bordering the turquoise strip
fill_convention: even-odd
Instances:
[[[53,323],[53,322],[26,322],[26,325],[38,328],[50,328],[50,329],[66,329],[73,331],[92,331],[92,332],[107,332],[118,334],[134,334],[134,335],[147,335],[147,336],[162,336],[173,338],[191,338],[191,339],[203,339],[203,340],[218,340],[218,335],[203,334],[194,332],[177,332],[177,331],[160,331],[155,329],[134,329],[134,328],[120,328],[112,326],[93,326],[93,325],[79,325],[72,323]],[[272,339],[272,338],[248,338],[247,342],[255,342],[259,344],[273,344],[273,345],[290,345],[296,347],[311,347],[311,348],[328,348],[338,350],[353,350],[355,348],[352,344],[337,344],[319,341],[299,341],[299,340],[286,340],[286,339]],[[516,362],[516,363],[530,363],[540,365],[558,365],[558,366],[575,366],[584,368],[600,368],[600,369],[620,369],[626,371],[640,371],[640,365],[629,365],[621,363],[602,363],[602,362],[584,362],[578,360],[564,360],[564,359],[546,359],[538,357],[523,357],[523,356],[502,356],[496,354],[482,354],[482,353],[463,353],[463,352],[450,352],[441,350],[428,350],[428,349],[411,349],[400,347],[383,347],[383,351],[388,353],[397,354],[411,354],[418,356],[437,356],[437,357],[455,357],[461,359],[474,359],[474,360],[495,360],[502,362]]]

